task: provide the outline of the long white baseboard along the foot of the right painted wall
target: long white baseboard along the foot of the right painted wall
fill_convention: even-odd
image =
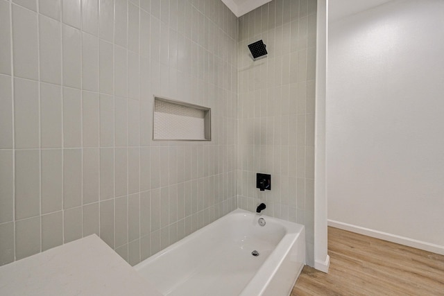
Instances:
[[[395,234],[388,234],[386,232],[379,232],[377,230],[368,229],[348,223],[343,223],[335,220],[328,220],[328,226],[336,227],[349,232],[355,232],[357,234],[364,234],[374,238],[379,238],[384,241],[391,241],[392,243],[399,243],[400,245],[407,245],[408,247],[415,247],[416,249],[434,252],[436,254],[444,255],[443,245],[434,245],[433,243],[427,243],[425,241],[418,241],[413,238],[407,238],[404,236],[397,236]]]

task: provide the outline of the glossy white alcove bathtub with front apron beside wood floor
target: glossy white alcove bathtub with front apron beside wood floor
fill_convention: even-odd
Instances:
[[[237,209],[135,269],[163,295],[287,296],[304,264],[303,225]]]

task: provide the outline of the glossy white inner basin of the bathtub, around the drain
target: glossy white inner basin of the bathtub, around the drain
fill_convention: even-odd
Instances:
[[[164,295],[240,295],[284,238],[288,241],[288,234],[298,231],[273,218],[261,227],[257,218],[236,210],[135,269]],[[253,250],[259,256],[253,256]]]

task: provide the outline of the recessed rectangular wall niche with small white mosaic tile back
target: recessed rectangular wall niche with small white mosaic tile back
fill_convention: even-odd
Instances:
[[[211,109],[154,96],[153,140],[211,141]]]

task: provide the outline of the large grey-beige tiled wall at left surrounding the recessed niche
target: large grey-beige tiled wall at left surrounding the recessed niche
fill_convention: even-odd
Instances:
[[[0,265],[94,233],[135,264],[237,207],[221,1],[0,0],[0,44]],[[153,94],[212,141],[152,141]]]

